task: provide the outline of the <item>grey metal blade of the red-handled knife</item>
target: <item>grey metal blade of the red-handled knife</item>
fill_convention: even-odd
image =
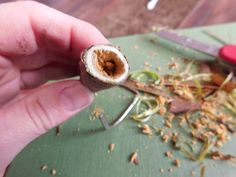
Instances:
[[[156,33],[159,37],[164,38],[168,41],[175,42],[177,44],[180,44],[184,47],[191,48],[200,52],[203,52],[205,54],[219,57],[219,50],[221,47],[212,45],[212,44],[205,44],[203,42],[197,41],[195,39],[186,37],[184,35],[180,35],[178,33],[174,33],[168,30],[161,30]]]

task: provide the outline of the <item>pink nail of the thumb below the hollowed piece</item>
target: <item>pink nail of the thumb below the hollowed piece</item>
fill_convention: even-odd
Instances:
[[[81,85],[71,85],[62,90],[60,102],[67,111],[79,111],[88,106],[93,100],[93,93]]]

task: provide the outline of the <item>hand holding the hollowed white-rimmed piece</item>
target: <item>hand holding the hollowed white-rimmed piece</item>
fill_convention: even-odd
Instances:
[[[92,25],[34,1],[0,5],[0,177],[32,140],[88,106],[81,51],[108,43]],[[44,84],[44,85],[43,85]]]

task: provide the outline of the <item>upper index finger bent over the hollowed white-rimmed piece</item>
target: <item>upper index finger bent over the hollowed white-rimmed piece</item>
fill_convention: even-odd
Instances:
[[[0,21],[2,55],[30,55],[46,47],[79,57],[93,44],[109,43],[93,25],[35,1],[1,5]]]

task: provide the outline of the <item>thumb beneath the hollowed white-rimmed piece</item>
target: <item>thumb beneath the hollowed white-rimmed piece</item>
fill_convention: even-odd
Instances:
[[[87,107],[93,94],[79,81],[27,91],[0,111],[0,173],[32,140]]]

